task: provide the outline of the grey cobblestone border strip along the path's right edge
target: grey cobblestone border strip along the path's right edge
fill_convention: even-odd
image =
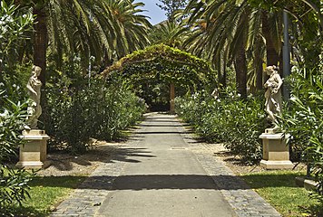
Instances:
[[[260,197],[258,193],[250,189],[250,186],[241,180],[239,176],[234,175],[230,168],[224,165],[219,157],[213,156],[213,153],[216,152],[214,149],[214,146],[216,145],[196,143],[196,140],[189,134],[185,134],[185,130],[182,130],[181,127],[178,127],[178,130],[179,132],[182,132],[181,136],[184,141],[195,154],[207,174],[212,177],[214,183],[219,187],[220,192],[223,194],[225,200],[230,203],[230,206],[236,212],[237,216],[281,216],[279,212]]]

